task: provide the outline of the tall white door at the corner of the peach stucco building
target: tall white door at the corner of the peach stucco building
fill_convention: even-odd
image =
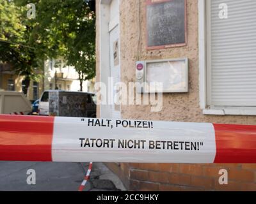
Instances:
[[[120,0],[100,1],[100,82],[106,84],[108,105],[100,105],[100,117],[120,119],[121,106],[116,83],[121,81],[120,62]]]

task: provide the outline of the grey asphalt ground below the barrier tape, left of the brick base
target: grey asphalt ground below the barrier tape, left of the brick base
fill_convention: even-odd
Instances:
[[[77,191],[88,163],[0,161],[0,191]],[[35,170],[36,184],[27,184],[27,171]],[[117,188],[119,187],[119,188]],[[93,163],[84,191],[125,190],[122,182],[102,163]]]

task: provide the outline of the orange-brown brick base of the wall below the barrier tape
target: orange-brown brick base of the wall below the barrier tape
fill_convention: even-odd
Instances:
[[[256,164],[107,164],[130,191],[256,191]],[[220,185],[219,171],[228,171]]]

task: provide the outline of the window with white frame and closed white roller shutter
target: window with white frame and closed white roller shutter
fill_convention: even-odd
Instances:
[[[199,22],[200,99],[204,101],[204,113],[255,115],[256,1],[227,0],[223,4],[221,0],[201,0],[199,10],[199,18],[205,10],[207,13],[206,21]]]

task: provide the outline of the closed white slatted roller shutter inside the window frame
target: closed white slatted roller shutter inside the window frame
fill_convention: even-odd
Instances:
[[[256,106],[256,1],[207,3],[209,104]],[[227,19],[219,16],[221,3],[227,4]]]

